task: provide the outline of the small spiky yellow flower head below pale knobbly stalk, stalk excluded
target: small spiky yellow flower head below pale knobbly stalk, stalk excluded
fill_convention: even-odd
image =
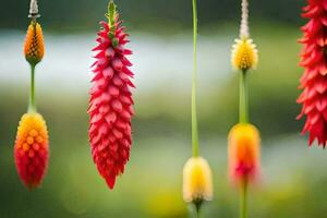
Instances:
[[[232,47],[231,62],[235,69],[241,71],[256,68],[258,55],[256,45],[253,44],[251,38],[235,39],[235,44]]]

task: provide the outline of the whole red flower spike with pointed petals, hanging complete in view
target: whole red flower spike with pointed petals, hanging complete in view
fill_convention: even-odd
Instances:
[[[134,114],[131,87],[133,73],[126,59],[132,51],[121,26],[114,3],[109,3],[109,22],[100,22],[93,50],[93,86],[89,90],[89,142],[93,159],[101,177],[113,189],[116,179],[124,172],[132,145],[131,119]]]

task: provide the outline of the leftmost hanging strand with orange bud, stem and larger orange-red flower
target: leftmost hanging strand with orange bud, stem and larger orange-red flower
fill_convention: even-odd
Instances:
[[[49,161],[49,136],[41,114],[36,111],[35,104],[35,66],[44,57],[44,37],[37,23],[38,7],[31,0],[31,25],[24,45],[24,55],[31,65],[31,93],[28,112],[25,113],[17,128],[14,144],[14,159],[17,173],[24,185],[32,190],[38,187],[47,172]]]

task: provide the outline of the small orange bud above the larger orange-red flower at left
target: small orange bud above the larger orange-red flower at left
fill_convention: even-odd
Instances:
[[[32,20],[25,38],[25,58],[32,65],[36,65],[44,58],[44,53],[45,44],[43,29],[36,21]]]

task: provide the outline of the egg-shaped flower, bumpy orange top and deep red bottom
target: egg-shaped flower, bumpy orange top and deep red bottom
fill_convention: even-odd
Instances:
[[[20,122],[14,145],[17,173],[28,189],[40,185],[49,159],[47,125],[39,113],[25,113]]]

